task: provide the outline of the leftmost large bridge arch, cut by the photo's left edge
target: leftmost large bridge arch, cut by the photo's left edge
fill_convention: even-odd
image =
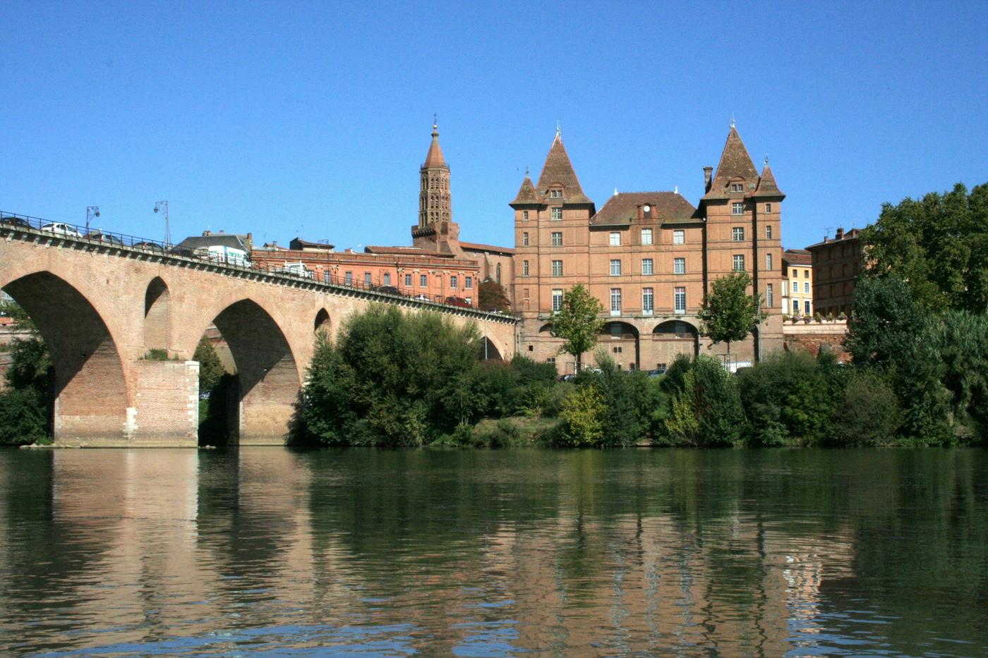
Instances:
[[[127,376],[117,333],[91,299],[41,271],[5,285],[38,327],[53,370],[55,441],[107,439],[126,434]]]

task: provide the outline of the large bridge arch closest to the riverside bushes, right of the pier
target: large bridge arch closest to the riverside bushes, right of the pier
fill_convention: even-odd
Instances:
[[[198,343],[211,320],[229,347],[238,382],[227,412],[230,443],[284,443],[301,383],[286,332],[268,310],[250,298],[212,312],[190,339]]]

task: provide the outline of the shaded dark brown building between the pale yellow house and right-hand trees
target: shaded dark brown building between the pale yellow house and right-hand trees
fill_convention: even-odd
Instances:
[[[813,298],[823,315],[850,315],[855,303],[855,284],[864,267],[861,230],[838,228],[833,239],[806,249],[813,259]]]

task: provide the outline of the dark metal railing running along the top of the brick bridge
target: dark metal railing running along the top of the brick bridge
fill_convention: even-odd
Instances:
[[[18,214],[17,212],[8,212],[6,210],[0,210],[0,228],[30,228],[42,233],[48,233],[53,237],[68,238],[72,240],[80,240],[83,242],[91,242],[93,244],[103,244],[108,247],[127,247],[129,249],[137,249],[145,251],[150,254],[160,254],[163,256],[179,256],[182,258],[189,258],[193,260],[200,260],[206,263],[211,263],[215,265],[222,265],[225,267],[236,268],[239,270],[247,270],[250,272],[256,272],[258,274],[276,274],[282,276],[293,277],[301,281],[311,281],[313,283],[327,284],[330,286],[336,286],[339,288],[350,288],[354,290],[364,290],[370,292],[376,292],[378,294],[391,295],[398,298],[412,299],[418,301],[427,301],[429,303],[437,304],[440,306],[446,306],[450,308],[461,308],[464,310],[479,311],[483,313],[490,313],[492,311],[484,311],[480,308],[470,305],[462,297],[457,297],[455,295],[442,295],[433,294],[426,295],[421,291],[416,292],[414,289],[403,288],[400,286],[391,286],[389,284],[385,285],[374,285],[373,283],[366,283],[364,281],[358,280],[346,280],[345,277],[340,277],[333,275],[329,272],[324,272],[321,280],[315,277],[315,273],[311,270],[301,271],[297,268],[286,267],[284,264],[274,264],[274,263],[254,263],[249,259],[244,258],[230,258],[229,256],[220,256],[215,253],[202,253],[202,249],[189,249],[188,247],[182,247],[176,244],[166,243],[159,240],[151,240],[149,238],[138,237],[136,235],[127,235],[126,233],[118,233],[116,231],[108,231],[103,228],[92,229],[90,228],[87,232],[85,226],[79,224],[70,224],[65,221],[51,221],[49,219],[41,219],[41,217],[32,217],[27,214]],[[514,318],[515,316],[509,313],[496,313],[502,317]]]

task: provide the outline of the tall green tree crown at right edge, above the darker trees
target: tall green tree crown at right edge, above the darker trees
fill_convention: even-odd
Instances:
[[[864,278],[894,273],[923,308],[988,308],[988,184],[884,204],[864,228]]]

